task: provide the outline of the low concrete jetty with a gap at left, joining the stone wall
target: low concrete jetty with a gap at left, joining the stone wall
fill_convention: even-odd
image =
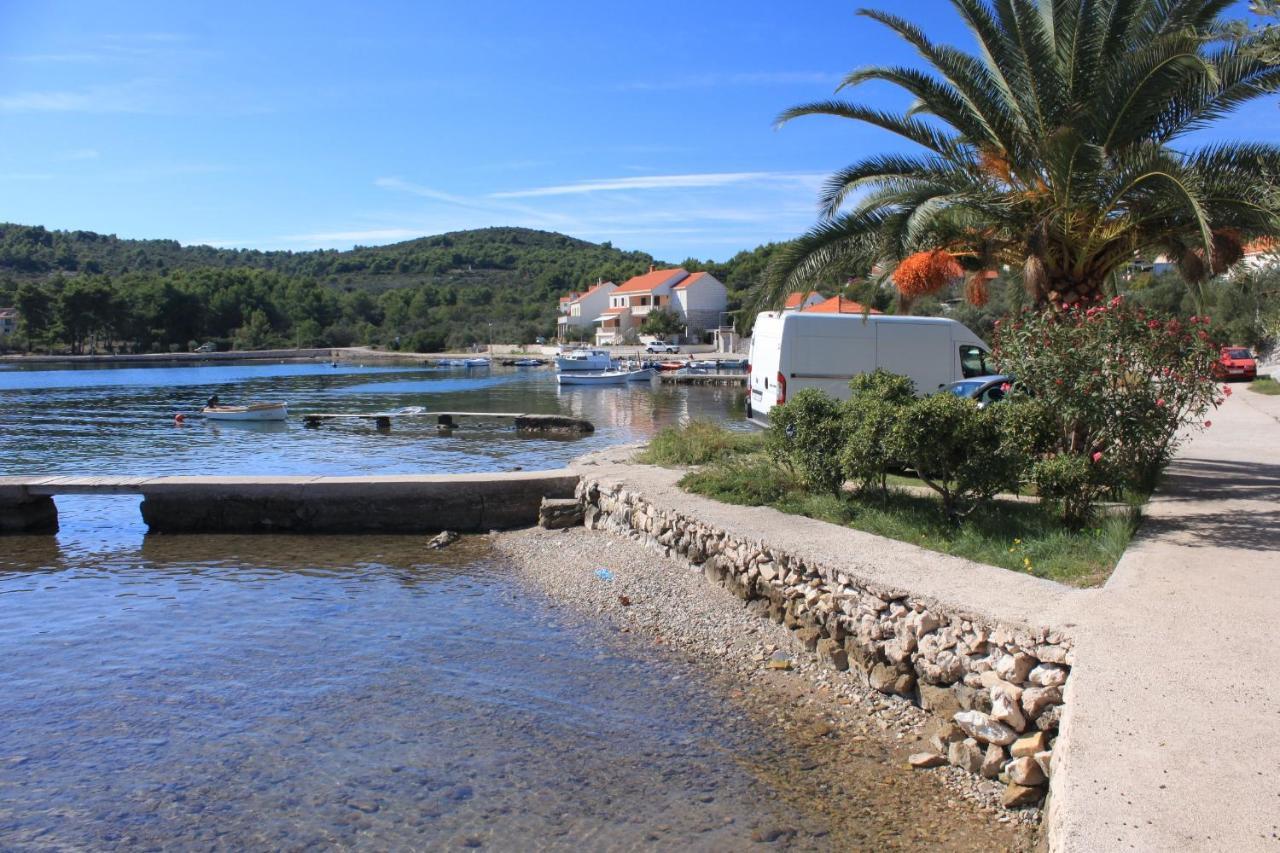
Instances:
[[[59,494],[141,494],[152,533],[488,532],[538,523],[577,474],[0,476],[0,533],[54,533]]]

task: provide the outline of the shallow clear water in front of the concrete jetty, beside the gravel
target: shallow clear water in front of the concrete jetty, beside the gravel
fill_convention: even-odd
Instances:
[[[481,540],[59,562],[38,539],[0,560],[6,849],[723,849],[812,825],[768,806],[732,703],[575,630]]]

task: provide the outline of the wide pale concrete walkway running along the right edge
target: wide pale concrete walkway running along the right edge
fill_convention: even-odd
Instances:
[[[1234,392],[1079,602],[1055,850],[1280,850],[1280,397]]]

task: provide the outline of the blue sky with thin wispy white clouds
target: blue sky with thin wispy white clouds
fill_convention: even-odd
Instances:
[[[772,127],[914,61],[859,5],[0,0],[0,220],[292,250],[524,225],[722,260],[905,147]],[[868,5],[970,44],[945,0]],[[1272,102],[1217,133],[1277,132]]]

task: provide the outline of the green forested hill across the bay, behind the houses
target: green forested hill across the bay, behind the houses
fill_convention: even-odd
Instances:
[[[736,293],[773,246],[727,264],[690,259]],[[531,343],[556,329],[558,297],[622,282],[654,259],[525,228],[484,228],[349,251],[256,251],[0,225],[8,348],[174,351],[376,345],[439,351]],[[659,264],[660,265],[660,264]]]

